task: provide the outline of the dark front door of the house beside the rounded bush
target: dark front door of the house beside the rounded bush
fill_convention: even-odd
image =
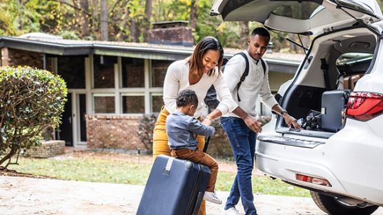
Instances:
[[[64,112],[61,114],[61,124],[56,132],[56,138],[65,141],[66,146],[73,146],[72,133],[72,94],[68,92],[68,101],[64,106]]]

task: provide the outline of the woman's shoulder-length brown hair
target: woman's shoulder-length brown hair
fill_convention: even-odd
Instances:
[[[204,37],[201,41],[197,43],[197,46],[195,47],[195,50],[193,54],[190,56],[188,63],[189,63],[189,70],[193,72],[193,74],[197,76],[202,76],[202,71],[204,71],[204,65],[202,65],[202,58],[208,52],[208,50],[215,50],[219,52],[219,59],[218,59],[218,70],[221,70],[222,67],[222,61],[224,59],[224,48],[222,48],[221,43],[214,37]],[[215,68],[212,68],[208,72],[208,76],[214,74]]]

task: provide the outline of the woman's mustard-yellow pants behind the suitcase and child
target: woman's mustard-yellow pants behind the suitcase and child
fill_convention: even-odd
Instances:
[[[170,156],[170,149],[168,146],[168,135],[166,135],[166,117],[168,117],[169,112],[162,107],[161,112],[155,123],[155,130],[153,132],[153,158],[156,158],[160,154]],[[204,148],[205,137],[197,136],[198,147],[200,149]],[[199,208],[198,215],[205,215],[205,200],[202,200],[201,207]]]

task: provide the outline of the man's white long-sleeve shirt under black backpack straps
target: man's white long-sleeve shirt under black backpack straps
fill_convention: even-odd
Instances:
[[[246,68],[246,60],[241,55],[237,54],[232,57],[225,65],[224,79],[228,85],[233,99],[239,107],[242,108],[249,115],[257,117],[257,110],[255,109],[255,101],[257,97],[261,99],[267,107],[271,109],[277,104],[273,94],[271,94],[270,86],[268,85],[268,65],[266,64],[266,71],[262,68],[261,61],[255,61],[248,54],[247,50],[243,51],[248,59],[248,76],[246,76],[244,82],[239,87],[239,98],[237,97],[237,83],[244,74]],[[228,113],[225,116],[239,117],[234,113]]]

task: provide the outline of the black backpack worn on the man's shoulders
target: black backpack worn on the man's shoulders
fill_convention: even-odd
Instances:
[[[248,59],[247,59],[247,56],[246,56],[246,54],[244,52],[239,52],[237,54],[239,54],[242,57],[244,57],[244,59],[246,61],[245,71],[242,74],[241,79],[239,80],[239,83],[237,83],[237,86],[236,86],[238,101],[241,101],[241,99],[239,98],[238,90],[239,90],[239,87],[241,86],[242,82],[245,81],[246,76],[248,76]],[[234,54],[234,56],[237,55],[237,54]],[[261,59],[260,61],[262,63],[262,68],[264,69],[264,74],[266,74],[266,63],[264,62],[263,59]],[[226,65],[227,62],[228,62],[228,59],[224,59],[224,61],[222,62],[222,68],[221,68],[222,72],[224,72],[225,65]],[[211,85],[211,87],[209,88],[208,92],[206,93],[204,102],[206,103],[206,105],[208,105],[208,108],[210,110],[214,110],[215,108],[217,108],[217,106],[219,104],[219,101],[217,100],[217,92],[215,92],[215,88],[214,88],[213,85]]]

